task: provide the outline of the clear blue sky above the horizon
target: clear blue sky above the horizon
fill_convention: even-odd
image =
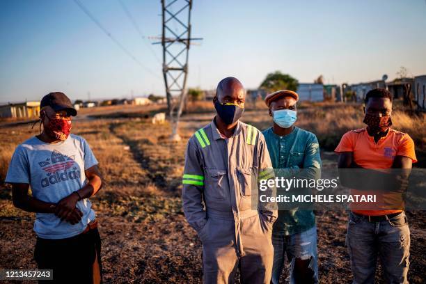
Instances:
[[[164,95],[161,65],[118,0],[81,0],[136,64],[72,0],[0,1],[0,103]],[[123,0],[145,36],[161,33],[159,0]],[[281,70],[312,82],[356,83],[426,74],[426,1],[194,0],[188,86],[214,88],[235,76],[246,88]],[[161,46],[152,48],[161,58]]]

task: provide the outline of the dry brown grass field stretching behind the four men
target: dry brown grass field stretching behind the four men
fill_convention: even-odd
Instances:
[[[181,208],[184,149],[196,129],[210,122],[210,102],[189,103],[180,123],[182,141],[168,141],[170,125],[152,125],[152,113],[164,107],[98,112],[74,122],[72,132],[84,136],[100,163],[104,187],[93,198],[100,221],[105,283],[200,283],[201,244]],[[94,113],[91,113],[94,114]],[[324,166],[336,166],[332,150],[348,129],[363,127],[357,104],[301,104],[299,127],[319,139]],[[259,129],[271,125],[261,102],[251,104],[244,122]],[[408,132],[425,167],[424,116],[395,111],[394,128]],[[38,127],[0,127],[0,180],[3,182],[16,145],[38,134]],[[346,212],[316,212],[319,278],[322,283],[349,283],[345,248]],[[425,214],[408,212],[411,226],[411,283],[425,283]],[[10,188],[0,184],[0,269],[33,269],[34,216],[15,209]],[[378,283],[384,283],[381,269]],[[283,276],[285,278],[285,276]]]

